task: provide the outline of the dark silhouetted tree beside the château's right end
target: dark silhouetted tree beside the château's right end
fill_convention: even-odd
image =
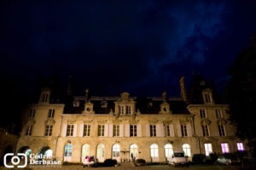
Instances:
[[[256,34],[247,48],[237,55],[230,68],[227,99],[230,120],[236,125],[236,135],[247,139],[253,157],[256,156]]]

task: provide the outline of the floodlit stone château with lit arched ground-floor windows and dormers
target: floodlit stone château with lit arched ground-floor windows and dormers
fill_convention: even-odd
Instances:
[[[73,96],[72,105],[51,102],[43,88],[38,103],[25,111],[17,152],[81,162],[85,156],[131,161],[131,154],[165,162],[173,150],[194,154],[246,150],[229,122],[229,105],[218,102],[203,79],[189,93],[180,79],[180,97]],[[188,95],[189,94],[189,95]],[[67,105],[70,105],[67,107]]]

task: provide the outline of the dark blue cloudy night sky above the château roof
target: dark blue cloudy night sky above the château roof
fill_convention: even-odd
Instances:
[[[1,1],[0,71],[30,90],[61,75],[92,95],[179,95],[178,79],[221,83],[256,31],[255,1]],[[27,87],[27,88],[26,88]]]

